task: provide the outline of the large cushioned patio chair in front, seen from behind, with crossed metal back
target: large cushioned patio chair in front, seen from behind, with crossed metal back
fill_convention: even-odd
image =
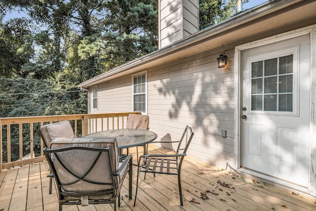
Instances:
[[[132,199],[132,155],[118,163],[116,138],[56,138],[44,155],[57,184],[59,211],[64,205],[114,204],[129,172]]]

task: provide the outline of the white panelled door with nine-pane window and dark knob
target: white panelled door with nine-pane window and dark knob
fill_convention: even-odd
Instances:
[[[240,166],[308,186],[310,36],[241,51]]]

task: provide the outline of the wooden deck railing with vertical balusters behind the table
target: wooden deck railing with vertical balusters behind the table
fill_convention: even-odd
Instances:
[[[97,131],[125,128],[127,116],[131,113],[140,114],[129,112],[0,118],[0,172],[2,169],[45,160],[43,141],[39,134],[39,128],[43,125],[68,120],[74,128],[75,136],[83,137]]]

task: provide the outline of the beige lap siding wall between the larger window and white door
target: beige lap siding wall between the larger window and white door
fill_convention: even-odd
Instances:
[[[199,54],[148,70],[148,114],[158,140],[177,140],[189,125],[195,136],[188,154],[225,167],[234,164],[235,73],[233,59],[226,68],[217,67],[218,54]],[[233,50],[225,54],[234,58]]]

